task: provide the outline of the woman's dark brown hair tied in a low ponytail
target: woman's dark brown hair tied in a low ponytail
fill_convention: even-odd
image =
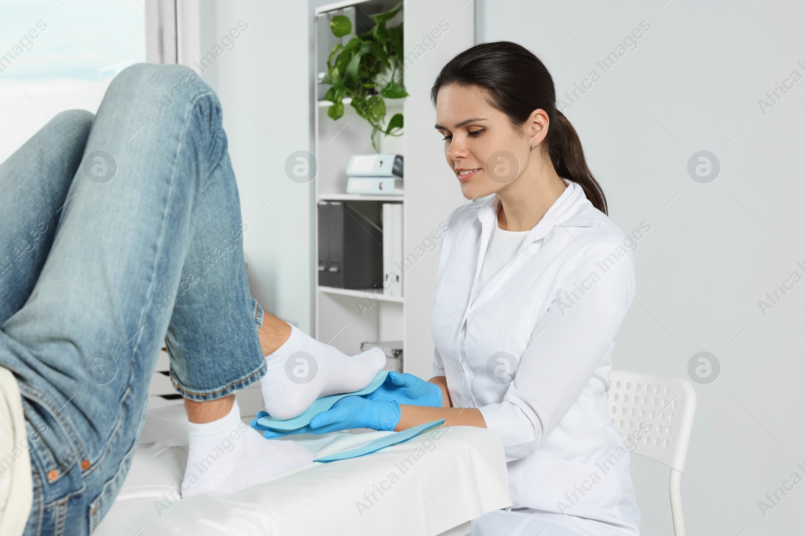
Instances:
[[[447,84],[485,88],[489,104],[506,113],[515,128],[535,109],[545,110],[550,119],[545,139],[556,174],[578,182],[592,206],[607,213],[604,190],[584,160],[576,129],[556,109],[553,78],[537,56],[510,41],[477,44],[456,55],[436,76],[431,88],[434,106],[439,89]]]

